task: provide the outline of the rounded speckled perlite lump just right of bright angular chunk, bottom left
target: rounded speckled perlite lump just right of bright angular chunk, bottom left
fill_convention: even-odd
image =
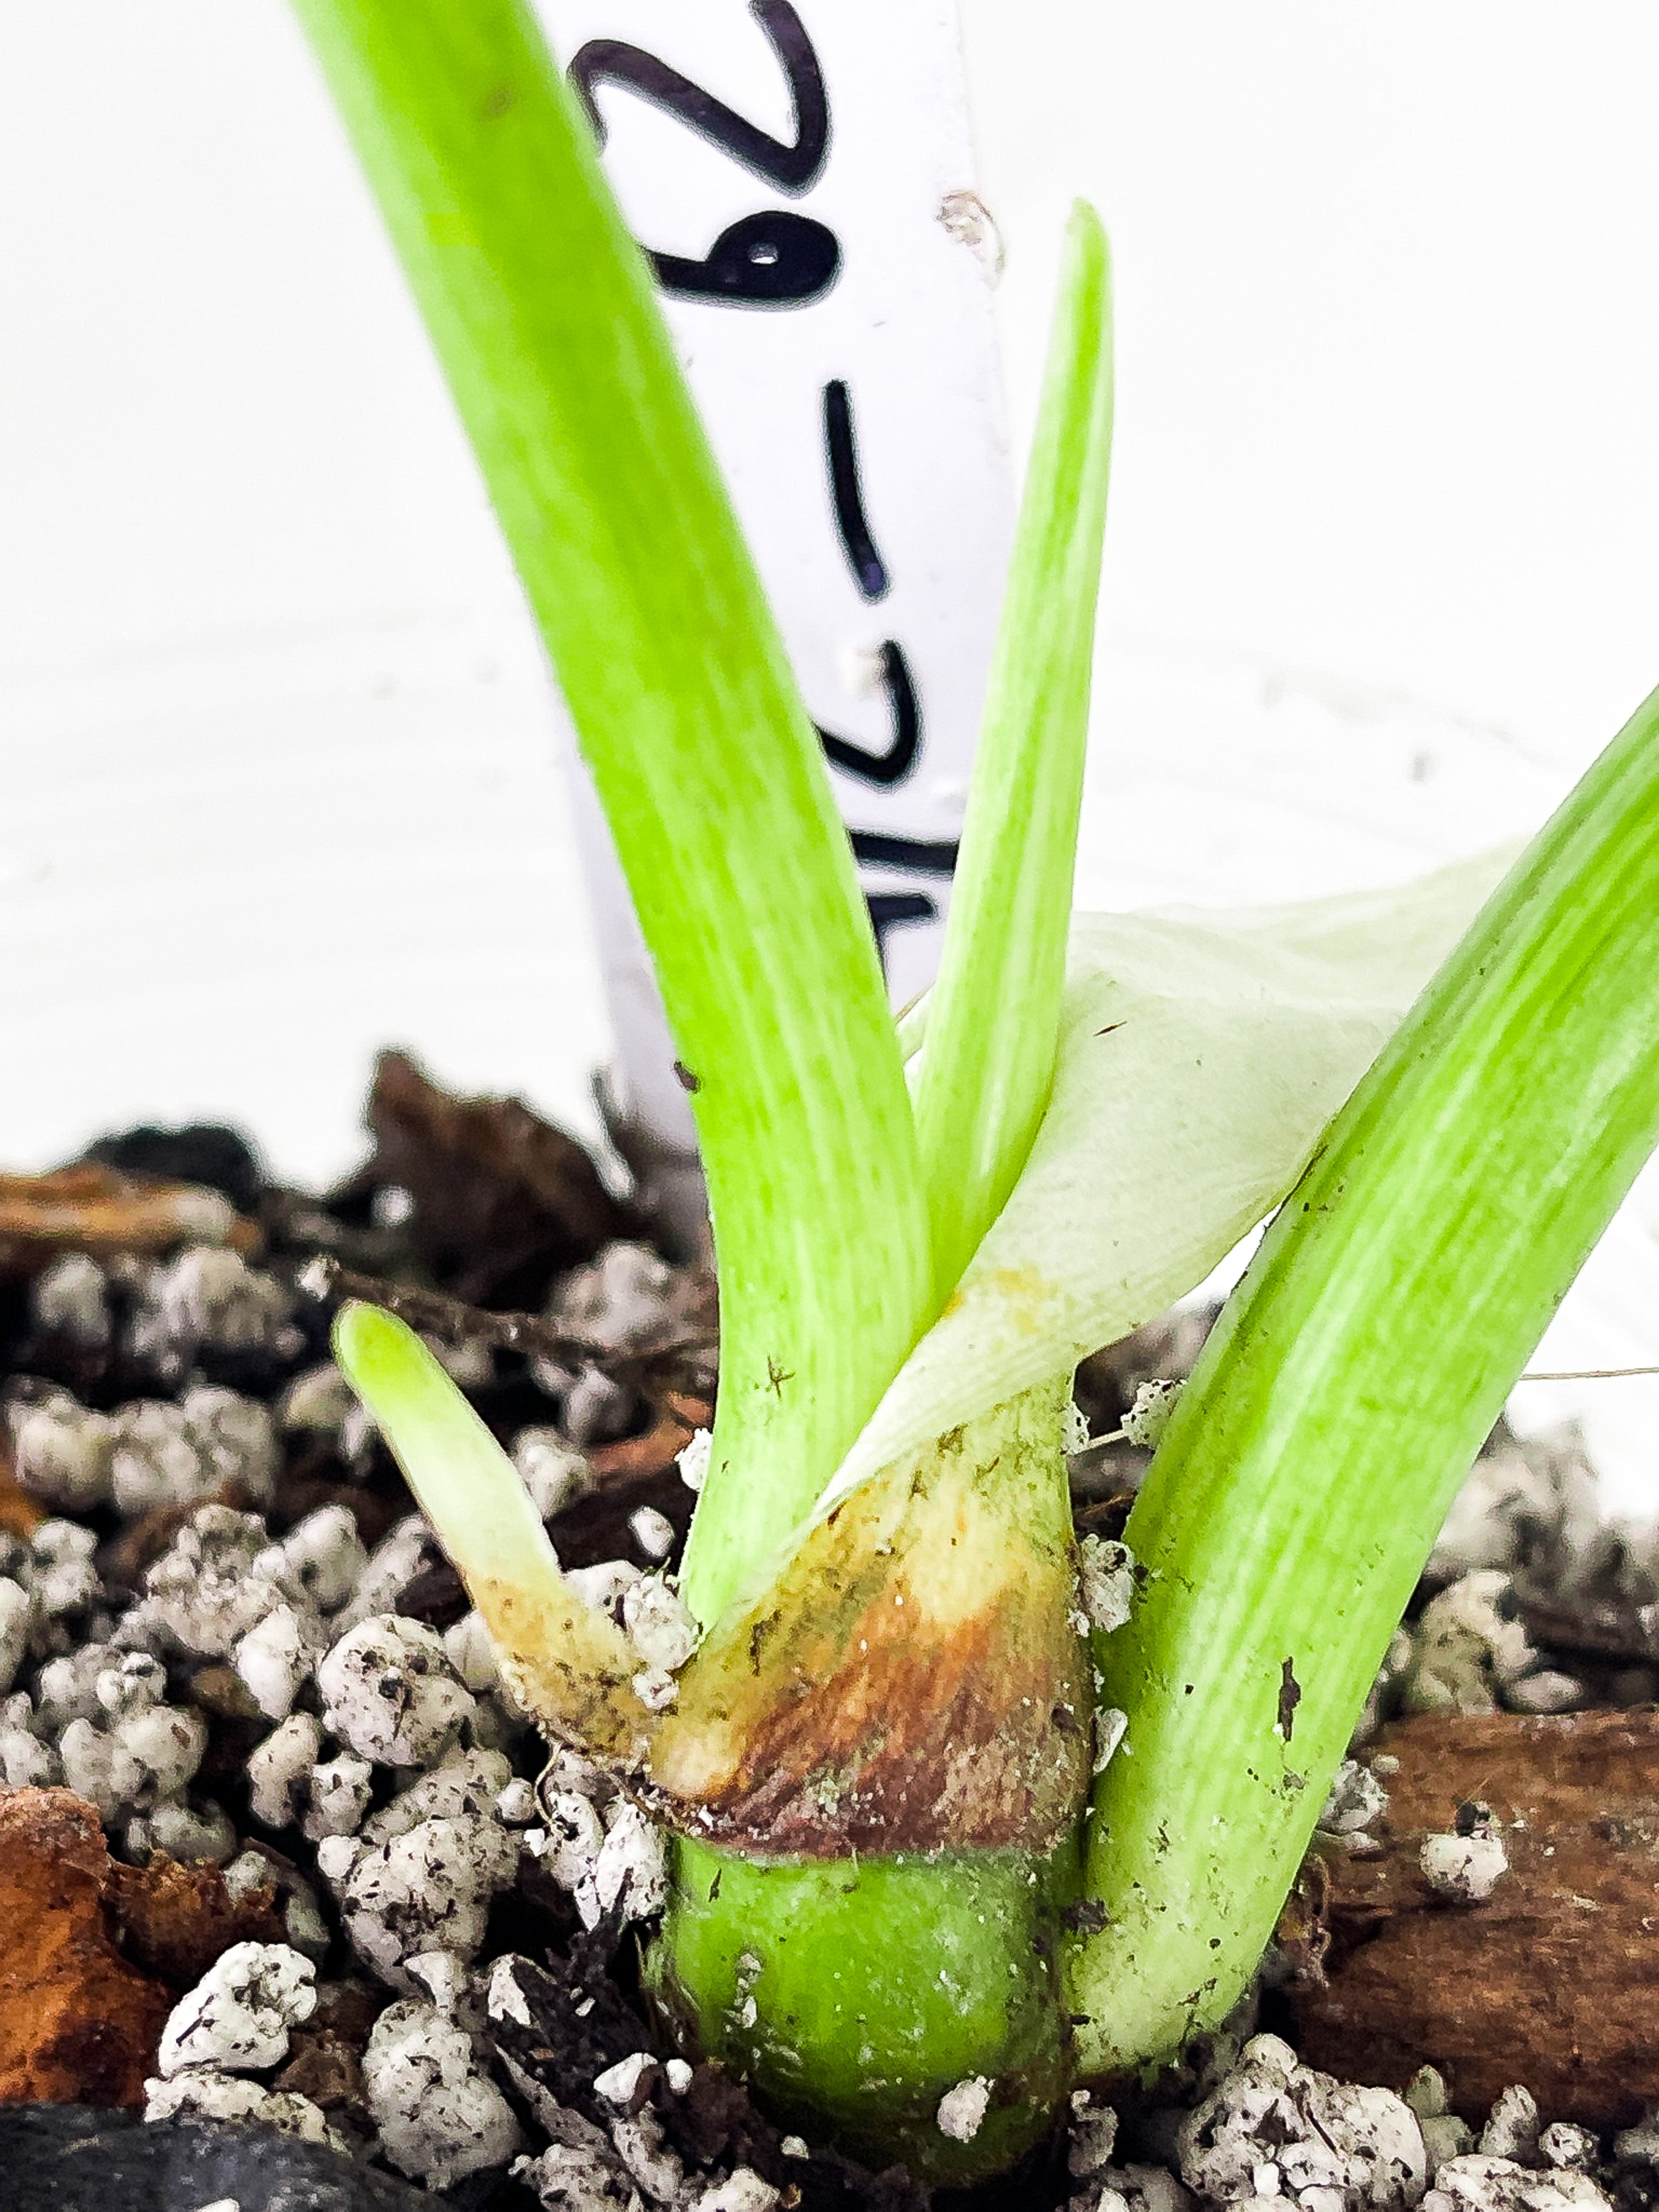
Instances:
[[[427,2188],[507,2166],[522,2146],[511,2106],[478,2073],[471,2037],[434,2004],[407,2000],[380,2013],[363,2084],[385,2154]]]

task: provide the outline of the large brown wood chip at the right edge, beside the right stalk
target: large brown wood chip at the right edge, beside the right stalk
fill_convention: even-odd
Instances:
[[[1659,1714],[1422,1714],[1385,1730],[1389,1834],[1332,1865],[1327,1986],[1294,1991],[1303,2053],[1405,2088],[1438,2066],[1482,2119],[1513,2081],[1544,2119],[1630,2126],[1659,2097]],[[1425,1880],[1425,1834],[1484,1798],[1504,1874],[1484,1905]]]

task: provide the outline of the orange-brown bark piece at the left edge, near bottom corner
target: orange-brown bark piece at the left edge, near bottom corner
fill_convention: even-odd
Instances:
[[[111,1856],[73,1790],[0,1798],[0,2101],[144,2101],[175,1993],[108,1931]]]

